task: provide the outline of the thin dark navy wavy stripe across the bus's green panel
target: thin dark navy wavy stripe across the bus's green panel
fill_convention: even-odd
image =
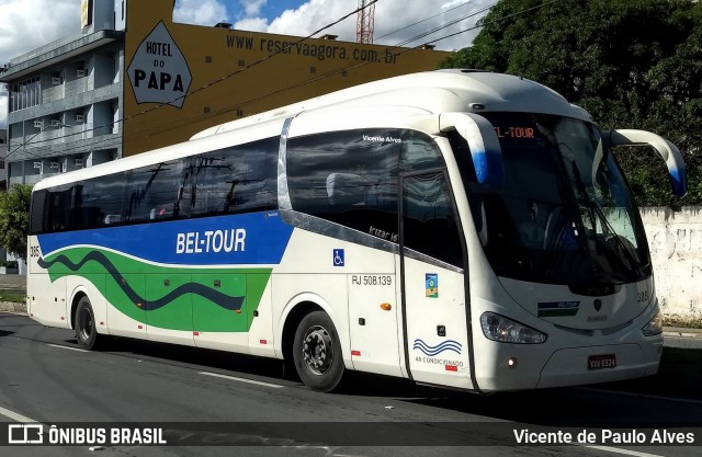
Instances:
[[[105,271],[112,276],[115,284],[122,288],[124,294],[129,297],[129,300],[134,304],[134,306],[144,309],[145,311],[154,311],[156,309],[162,308],[163,306],[170,304],[181,295],[185,294],[194,294],[200,295],[214,302],[217,306],[220,306],[224,309],[236,311],[241,309],[241,305],[244,305],[245,297],[233,297],[226,294],[223,294],[218,290],[214,290],[207,286],[204,286],[199,283],[188,283],[177,287],[174,290],[171,290],[166,296],[158,298],[156,300],[147,300],[145,297],[141,297],[129,286],[127,282],[122,281],[122,274],[117,271],[112,262],[102,253],[98,251],[91,251],[86,255],[80,262],[73,263],[66,255],[59,254],[56,259],[50,262],[45,261],[44,259],[38,260],[38,265],[42,269],[49,269],[52,265],[56,263],[60,263],[65,265],[72,272],[78,272],[86,263],[93,261],[98,262],[105,269]],[[139,304],[139,305],[137,305]]]

